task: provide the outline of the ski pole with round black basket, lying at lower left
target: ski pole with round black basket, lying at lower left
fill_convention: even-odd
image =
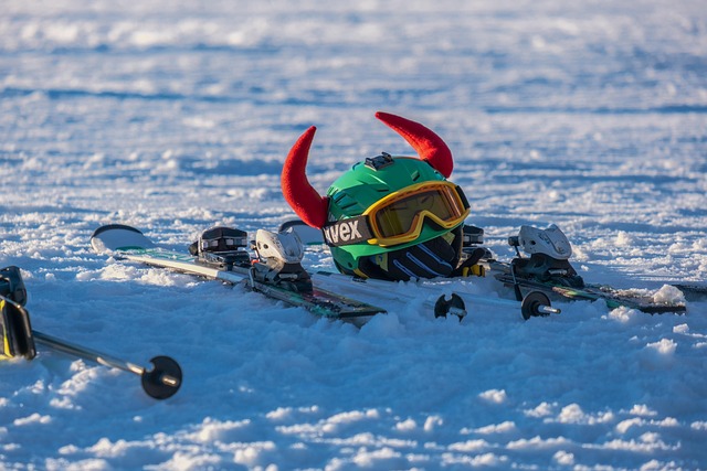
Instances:
[[[38,343],[56,351],[68,353],[70,355],[78,356],[80,358],[89,360],[101,365],[112,366],[140,376],[143,389],[145,389],[150,397],[156,399],[167,399],[168,397],[171,397],[181,386],[181,368],[179,364],[169,356],[155,356],[150,360],[154,367],[148,371],[143,366],[116,358],[95,350],[71,344],[35,330],[32,331],[32,335]]]

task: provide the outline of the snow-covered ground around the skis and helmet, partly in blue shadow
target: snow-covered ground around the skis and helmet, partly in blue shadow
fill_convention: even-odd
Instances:
[[[172,248],[293,216],[289,147],[326,191],[424,122],[502,258],[558,224],[592,282],[707,274],[707,10],[699,1],[10,0],[0,14],[0,267],[34,329],[182,388],[40,350],[0,362],[0,469],[706,469],[707,301],[684,315],[478,303],[423,290],[358,329],[242,288],[94,254],[102,224]],[[306,263],[333,270],[328,251]],[[505,296],[488,279],[454,281]],[[667,286],[667,287],[665,287]]]

